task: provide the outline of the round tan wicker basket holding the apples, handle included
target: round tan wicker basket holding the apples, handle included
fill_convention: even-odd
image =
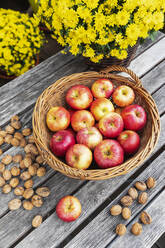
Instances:
[[[129,74],[129,78],[121,75],[110,74],[112,71],[122,71]],[[91,86],[98,78],[109,78],[114,85],[126,84],[133,88],[136,98],[135,103],[143,106],[147,112],[147,124],[141,131],[141,146],[138,152],[128,157],[123,164],[109,168],[98,169],[96,164],[92,164],[88,170],[75,169],[65,164],[65,161],[57,158],[49,149],[49,142],[52,133],[48,130],[45,122],[47,111],[52,106],[66,106],[65,94],[67,90],[75,84]],[[142,87],[140,79],[129,69],[121,66],[112,66],[98,73],[95,71],[82,72],[63,77],[49,86],[38,98],[33,112],[33,132],[36,145],[45,163],[54,170],[77,179],[82,180],[103,180],[119,175],[123,175],[139,166],[153,151],[159,137],[160,118],[154,100]]]

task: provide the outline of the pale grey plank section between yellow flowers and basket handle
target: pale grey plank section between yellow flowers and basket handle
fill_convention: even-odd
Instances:
[[[129,66],[138,76],[144,75],[155,65],[165,59],[165,38],[154,44],[150,49],[139,55]]]

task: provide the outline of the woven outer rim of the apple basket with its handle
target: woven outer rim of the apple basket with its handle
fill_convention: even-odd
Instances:
[[[111,71],[122,71],[122,72],[126,72],[128,73],[131,78],[128,77],[124,77],[121,75],[117,75],[117,74],[112,74],[110,73]],[[49,92],[51,92],[51,89],[53,87],[57,87],[60,83],[65,83],[65,81],[67,80],[71,80],[71,78],[80,78],[80,77],[91,77],[91,78],[96,78],[96,77],[106,77],[106,78],[110,78],[110,79],[120,79],[120,80],[127,80],[127,82],[129,81],[129,83],[133,86],[133,88],[135,90],[137,90],[138,92],[140,92],[141,94],[143,93],[143,95],[147,98],[147,100],[151,101],[151,106],[150,106],[150,114],[152,114],[154,116],[153,119],[155,119],[156,117],[156,122],[154,123],[154,127],[153,130],[154,132],[151,133],[150,136],[150,143],[152,144],[152,148],[148,150],[146,149],[141,150],[140,152],[137,152],[133,155],[133,157],[127,159],[124,163],[122,163],[119,166],[116,167],[112,167],[112,168],[106,168],[106,169],[88,169],[88,170],[83,170],[83,169],[77,169],[77,168],[72,168],[69,165],[67,165],[66,163],[64,163],[63,161],[60,160],[60,158],[56,157],[50,149],[48,149],[46,147],[46,145],[42,142],[42,136],[40,136],[40,134],[37,132],[36,130],[36,126],[35,126],[35,119],[36,119],[36,114],[39,113],[39,109],[38,109],[38,105],[40,104],[40,102],[43,103],[43,101],[46,99],[46,97],[49,97]],[[46,97],[45,97],[46,95]],[[35,138],[35,142],[37,147],[39,148],[44,160],[51,166],[51,159],[50,161],[48,161],[48,156],[53,157],[53,159],[56,161],[57,163],[57,168],[56,170],[66,174],[67,176],[70,177],[74,177],[74,178],[79,178],[79,179],[88,179],[88,180],[100,180],[100,179],[107,179],[116,175],[108,175],[110,172],[115,172],[118,171],[118,175],[122,175],[122,174],[126,174],[128,173],[131,169],[129,168],[125,168],[125,166],[127,164],[131,164],[131,162],[138,160],[139,162],[137,162],[138,166],[139,164],[141,164],[141,161],[139,160],[139,157],[144,157],[144,159],[146,159],[151,152],[153,151],[153,148],[155,147],[158,138],[159,138],[159,134],[160,134],[160,117],[158,114],[158,110],[156,107],[156,104],[154,102],[154,100],[152,99],[151,95],[145,90],[145,88],[142,86],[140,79],[136,76],[135,73],[133,73],[131,70],[121,67],[121,66],[111,66],[109,68],[106,68],[105,70],[101,71],[101,72],[95,72],[95,71],[88,71],[88,72],[81,72],[81,73],[74,73],[72,75],[69,76],[64,76],[62,78],[60,78],[59,80],[57,80],[55,83],[53,83],[52,85],[50,85],[47,89],[45,89],[42,94],[39,96],[39,98],[37,99],[36,105],[34,107],[34,112],[33,112],[33,132],[34,132],[34,138]],[[157,131],[157,134],[155,135],[155,129]],[[148,143],[149,143],[148,141]],[[44,152],[42,152],[44,151]],[[46,153],[46,157],[45,157],[45,153]],[[143,159],[143,160],[144,160]],[[59,168],[60,164],[62,167]],[[135,167],[136,167],[135,166]],[[133,169],[133,168],[132,168]],[[76,175],[78,173],[78,175]],[[101,173],[101,174],[107,174],[107,176],[105,175],[104,178],[100,178],[99,176],[96,175],[95,173]],[[82,175],[81,175],[82,174]],[[92,175],[93,174],[93,175]],[[92,179],[89,179],[91,178]],[[101,176],[102,177],[102,176]]]

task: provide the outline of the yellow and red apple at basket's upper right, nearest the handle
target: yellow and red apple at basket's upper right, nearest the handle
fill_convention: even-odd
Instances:
[[[114,90],[112,98],[118,106],[125,107],[133,103],[135,94],[131,87],[120,85]]]

